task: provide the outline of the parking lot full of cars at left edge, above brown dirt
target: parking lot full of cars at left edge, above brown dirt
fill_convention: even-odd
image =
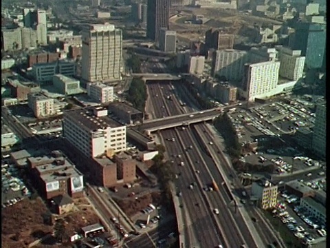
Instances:
[[[7,158],[1,160],[1,205],[10,207],[31,195],[20,178],[21,172]]]

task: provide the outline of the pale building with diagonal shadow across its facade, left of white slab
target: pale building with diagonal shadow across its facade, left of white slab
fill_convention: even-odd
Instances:
[[[228,81],[241,81],[244,65],[248,61],[248,52],[234,49],[217,50],[212,59],[212,76],[224,76]]]

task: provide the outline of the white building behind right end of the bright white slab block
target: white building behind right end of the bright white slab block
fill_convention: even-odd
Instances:
[[[301,56],[300,50],[280,48],[278,53],[280,59],[280,76],[285,79],[297,81],[303,76],[305,56]]]

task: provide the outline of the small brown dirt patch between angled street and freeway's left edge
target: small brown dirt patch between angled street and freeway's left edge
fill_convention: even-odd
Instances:
[[[119,207],[129,216],[133,216],[138,211],[141,211],[145,207],[147,207],[150,203],[153,205],[159,205],[161,201],[161,194],[160,192],[153,192],[151,194],[146,194],[140,198],[135,200],[132,198],[131,200],[119,200],[114,199],[115,202],[119,205]]]

